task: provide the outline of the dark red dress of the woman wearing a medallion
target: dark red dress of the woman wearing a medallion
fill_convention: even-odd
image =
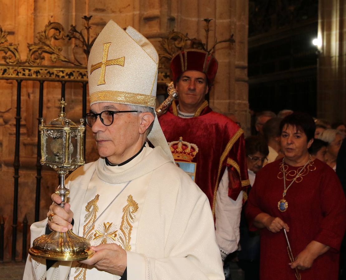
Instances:
[[[345,195],[333,169],[315,159],[316,170],[294,182],[285,196],[288,209],[280,212],[277,203],[282,199],[283,179],[277,177],[282,160],[267,164],[256,174],[254,186],[245,208],[250,230],[255,217],[264,212],[279,217],[290,227],[287,233],[293,255],[297,255],[312,241],[330,246],[319,256],[310,269],[300,271],[302,280],[337,280],[339,248],[346,228]],[[290,170],[299,167],[289,166]],[[311,168],[312,169],[312,168]],[[291,181],[286,180],[286,186]],[[261,230],[260,279],[294,280],[294,270],[287,252],[283,231],[272,233]]]

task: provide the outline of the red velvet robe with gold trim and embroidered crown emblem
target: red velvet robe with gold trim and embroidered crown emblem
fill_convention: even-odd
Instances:
[[[181,118],[177,115],[175,100],[158,120],[167,142],[171,144],[175,161],[181,165],[184,161],[195,163],[195,174],[191,176],[207,195],[213,215],[217,188],[226,167],[229,172],[229,197],[236,200],[240,191],[249,185],[243,130],[229,118],[213,112],[207,101],[194,117]],[[191,145],[190,150],[185,143],[181,153],[176,151],[180,137]]]

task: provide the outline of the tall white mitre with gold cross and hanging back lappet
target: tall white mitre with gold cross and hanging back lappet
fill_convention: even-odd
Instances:
[[[114,102],[155,108],[158,54],[142,34],[110,20],[95,40],[88,60],[90,106]],[[155,116],[148,140],[174,162]]]

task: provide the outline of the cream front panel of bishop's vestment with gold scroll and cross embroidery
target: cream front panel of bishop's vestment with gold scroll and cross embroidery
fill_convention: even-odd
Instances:
[[[126,251],[135,252],[138,224],[150,178],[151,174],[146,174],[131,181],[111,203],[126,183],[108,183],[98,171],[95,172],[83,199],[79,234],[88,239],[92,246],[115,243]],[[138,185],[141,187],[138,188]],[[69,280],[88,279],[115,280],[120,277],[73,262]]]

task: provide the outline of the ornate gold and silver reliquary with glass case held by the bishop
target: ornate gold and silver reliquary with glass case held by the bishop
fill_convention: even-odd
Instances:
[[[55,190],[61,197],[60,207],[64,208],[70,190],[65,187],[65,175],[84,165],[84,119],[76,125],[66,118],[64,98],[59,102],[61,111],[57,119],[47,125],[44,118],[38,126],[40,134],[42,165],[52,167],[60,177],[60,185]],[[36,238],[29,254],[34,257],[58,261],[80,261],[90,258],[94,251],[90,249],[90,242],[74,234],[67,232],[52,231]]]

